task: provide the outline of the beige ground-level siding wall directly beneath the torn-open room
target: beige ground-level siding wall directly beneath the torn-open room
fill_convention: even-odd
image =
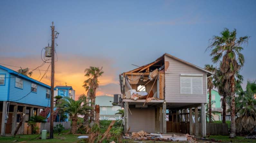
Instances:
[[[129,107],[128,126],[130,132],[146,131],[155,133],[155,107],[135,108]]]

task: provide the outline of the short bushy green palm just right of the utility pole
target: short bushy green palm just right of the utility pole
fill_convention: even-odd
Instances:
[[[56,111],[59,114],[65,114],[68,113],[71,120],[71,133],[76,133],[77,131],[77,118],[78,115],[83,115],[84,111],[89,111],[91,107],[82,105],[82,100],[75,101],[72,98],[64,97],[64,99],[60,99],[58,103],[55,105],[57,108]]]

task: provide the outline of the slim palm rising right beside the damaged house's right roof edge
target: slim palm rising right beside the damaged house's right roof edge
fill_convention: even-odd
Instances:
[[[210,71],[210,72],[215,72],[215,67],[213,65],[206,64],[204,65],[204,69]],[[212,89],[213,89],[213,76],[210,76],[207,78],[207,88],[209,91],[209,123],[212,123]]]

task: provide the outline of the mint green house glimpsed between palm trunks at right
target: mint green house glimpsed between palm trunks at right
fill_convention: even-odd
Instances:
[[[222,121],[222,102],[221,100],[221,96],[219,95],[219,92],[217,90],[212,90],[211,91],[212,94],[212,112],[215,113],[212,114],[213,118],[215,121]],[[207,94],[207,101],[209,103],[209,92]],[[208,104],[209,106],[209,104]]]

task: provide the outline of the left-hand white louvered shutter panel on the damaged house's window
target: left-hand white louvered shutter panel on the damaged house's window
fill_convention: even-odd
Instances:
[[[180,83],[180,93],[181,94],[191,94],[191,77],[190,76],[181,76]]]

